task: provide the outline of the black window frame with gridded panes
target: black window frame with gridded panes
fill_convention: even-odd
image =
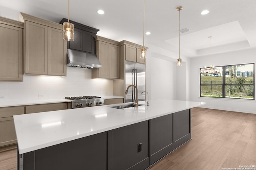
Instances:
[[[226,84],[226,67],[227,66],[239,66],[239,65],[247,65],[247,64],[253,64],[253,84],[231,84],[232,86],[253,86],[253,98],[226,98],[226,86],[230,86],[230,84]],[[224,99],[242,99],[242,100],[255,100],[255,63],[246,63],[246,64],[232,64],[232,65],[223,65],[223,66],[216,66],[216,67],[222,67],[222,84],[211,84],[211,86],[222,86],[222,97],[219,98],[224,98]],[[215,68],[216,68],[215,67]],[[200,97],[205,97],[205,98],[217,98],[217,97],[206,97],[202,96],[202,86],[207,86],[206,84],[201,84],[201,69],[204,69],[204,67],[199,68],[199,75],[200,75]],[[240,76],[242,75],[242,72],[239,72]]]

